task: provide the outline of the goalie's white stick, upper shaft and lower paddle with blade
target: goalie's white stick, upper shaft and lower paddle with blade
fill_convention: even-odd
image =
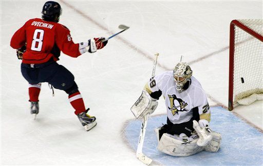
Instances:
[[[158,55],[159,55],[159,53],[155,54],[156,59],[154,61],[154,68],[153,68],[153,72],[152,72],[152,77],[155,75],[155,69],[156,69]],[[149,164],[151,164],[151,162],[153,160],[151,158],[145,156],[142,153],[142,146],[143,146],[144,136],[145,136],[145,132],[146,132],[147,121],[148,121],[148,114],[143,117],[142,127],[141,127],[139,142],[138,142],[138,147],[137,147],[137,151],[136,151],[136,156],[143,163],[149,165]]]

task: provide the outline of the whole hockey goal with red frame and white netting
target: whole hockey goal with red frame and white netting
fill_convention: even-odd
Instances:
[[[263,93],[263,20],[232,20],[229,47],[228,108],[231,111],[239,101]]]

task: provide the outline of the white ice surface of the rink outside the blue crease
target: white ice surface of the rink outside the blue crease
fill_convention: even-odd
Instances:
[[[130,26],[97,53],[78,58],[62,53],[58,61],[74,74],[97,127],[84,131],[68,95],[55,90],[52,97],[47,83],[40,113],[32,119],[28,83],[10,39],[28,19],[41,17],[45,1],[1,0],[1,165],[144,165],[123,133],[127,120],[135,119],[129,109],[151,76],[154,54],[160,53],[156,74],[172,70],[183,55],[210,105],[227,107],[230,22],[263,18],[262,1],[58,2],[60,23],[75,43],[107,37],[120,24]],[[256,102],[232,113],[262,131],[262,110]],[[160,99],[153,115],[165,111]],[[231,132],[231,126],[223,129]]]

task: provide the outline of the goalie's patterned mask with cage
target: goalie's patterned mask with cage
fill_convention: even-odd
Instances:
[[[180,61],[174,69],[174,78],[175,78],[175,84],[176,89],[179,92],[182,92],[182,88],[187,82],[187,80],[190,79],[192,76],[193,71],[191,70],[190,66],[182,61]]]

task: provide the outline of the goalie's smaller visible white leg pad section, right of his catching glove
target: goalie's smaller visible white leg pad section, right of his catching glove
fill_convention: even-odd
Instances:
[[[213,136],[213,138],[209,142],[209,144],[204,147],[204,150],[206,152],[217,152],[218,149],[220,148],[220,143],[221,143],[221,140],[222,140],[221,134],[212,131],[211,135]]]

